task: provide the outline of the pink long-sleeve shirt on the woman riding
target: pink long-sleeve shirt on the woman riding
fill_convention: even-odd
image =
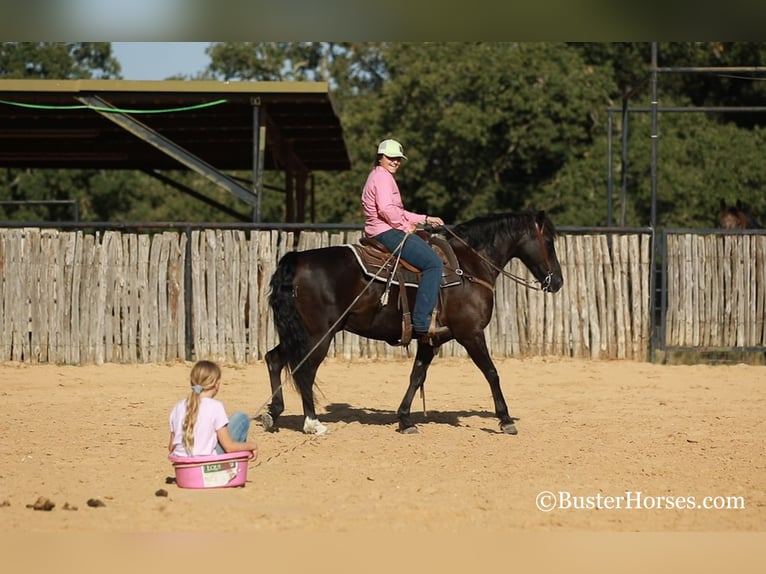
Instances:
[[[413,225],[426,221],[425,215],[404,209],[394,176],[379,165],[367,176],[362,190],[362,208],[367,237],[374,237],[391,228],[407,233]]]

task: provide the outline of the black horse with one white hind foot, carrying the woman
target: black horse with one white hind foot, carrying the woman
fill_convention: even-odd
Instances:
[[[462,270],[459,284],[443,287],[440,293],[439,320],[449,334],[439,340],[418,340],[410,384],[397,411],[399,431],[417,432],[410,418],[412,400],[424,384],[439,346],[455,339],[489,382],[501,430],[516,434],[484,328],[492,316],[495,281],[501,273],[507,274],[503,268],[512,258],[526,265],[543,291],[561,289],[564,280],[554,248],[556,230],[544,212],[530,211],[478,217],[447,231]],[[280,342],[265,357],[273,395],[262,416],[264,428],[276,430],[284,410],[281,373],[289,365],[303,401],[303,431],[324,434],[327,427],[316,417],[313,386],[333,336],[345,330],[396,344],[402,338],[403,324],[398,287],[390,286],[388,303],[382,303],[386,284],[366,277],[348,246],[285,254],[270,287],[269,304]],[[414,288],[406,289],[412,291],[408,297],[413,301]]]

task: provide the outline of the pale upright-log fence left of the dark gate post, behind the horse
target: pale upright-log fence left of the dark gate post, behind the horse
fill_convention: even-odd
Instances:
[[[277,342],[267,295],[279,257],[359,235],[0,229],[0,361],[261,360]],[[486,329],[492,355],[647,359],[651,234],[561,233],[556,249],[559,293],[498,281]],[[529,276],[515,260],[508,270]],[[388,359],[410,351],[343,332],[329,355]],[[440,353],[465,356],[455,342]]]

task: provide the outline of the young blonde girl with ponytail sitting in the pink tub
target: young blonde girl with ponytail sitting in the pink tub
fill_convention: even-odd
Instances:
[[[174,456],[206,456],[249,450],[258,456],[258,445],[247,440],[250,418],[245,413],[226,416],[216,400],[221,388],[221,368],[212,361],[197,361],[191,370],[191,392],[170,412],[168,451]]]

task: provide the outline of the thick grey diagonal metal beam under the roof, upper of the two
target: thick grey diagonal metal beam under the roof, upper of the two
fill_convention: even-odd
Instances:
[[[94,108],[111,108],[117,110],[114,106],[102,100],[98,96],[77,96],[77,99],[82,103],[94,107]],[[121,113],[121,112],[109,112],[99,109],[94,110],[96,113],[101,114],[109,121],[114,122],[124,130],[132,133],[136,137],[144,140],[146,143],[153,145],[166,155],[169,155],[173,159],[177,160],[181,164],[185,165],[192,171],[197,172],[201,176],[209,179],[216,185],[230,191],[236,195],[239,199],[247,203],[248,205],[255,206],[257,203],[256,196],[252,191],[246,187],[240,185],[239,182],[230,178],[224,173],[221,173],[218,169],[198,158],[194,154],[189,153],[178,144],[172,142],[162,134],[157,133],[150,127],[139,122],[135,118]]]

